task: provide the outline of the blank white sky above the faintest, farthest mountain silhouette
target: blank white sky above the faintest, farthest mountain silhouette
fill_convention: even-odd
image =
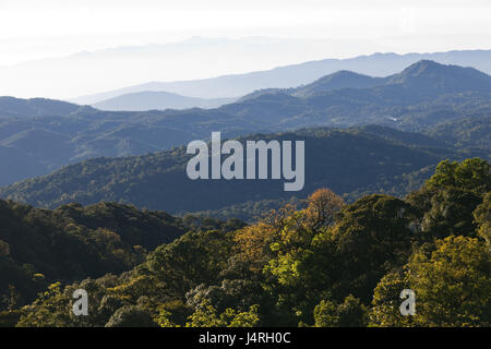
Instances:
[[[336,40],[290,60],[258,58],[249,71],[375,51],[491,49],[490,19],[489,0],[0,0],[0,67],[195,36]],[[231,59],[224,73],[237,67]],[[185,67],[173,72],[171,79],[217,73],[190,76]]]

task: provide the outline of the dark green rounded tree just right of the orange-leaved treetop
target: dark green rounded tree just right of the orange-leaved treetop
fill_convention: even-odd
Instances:
[[[336,300],[352,293],[370,302],[380,278],[406,263],[417,240],[412,219],[411,206],[388,195],[368,195],[342,209],[331,238],[336,249]]]

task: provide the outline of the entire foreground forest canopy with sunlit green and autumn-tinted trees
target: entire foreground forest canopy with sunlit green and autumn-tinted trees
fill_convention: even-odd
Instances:
[[[100,266],[97,274],[108,274],[53,281],[25,306],[17,303],[21,291],[7,285],[0,321],[109,327],[490,326],[490,191],[489,163],[469,158],[441,161],[405,198],[369,194],[346,204],[332,190],[319,189],[303,207],[288,203],[248,226],[116,204],[100,204],[103,217],[93,206],[38,210],[53,224],[71,220],[86,229],[109,217],[106,228],[122,246],[144,244],[143,221],[166,240],[129,272]],[[2,207],[16,209],[25,224],[29,212],[37,212],[12,202]],[[141,217],[131,234],[118,219],[134,215]],[[17,253],[9,249],[13,237],[1,237],[3,263]],[[94,249],[107,251],[107,245]],[[89,294],[88,316],[70,311],[79,288]],[[399,313],[403,289],[417,294],[415,316]]]

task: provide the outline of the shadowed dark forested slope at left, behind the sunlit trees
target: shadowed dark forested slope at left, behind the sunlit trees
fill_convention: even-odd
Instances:
[[[122,273],[190,230],[240,228],[238,220],[184,219],[98,203],[55,210],[0,200],[0,309],[15,289],[21,305],[49,284]]]

